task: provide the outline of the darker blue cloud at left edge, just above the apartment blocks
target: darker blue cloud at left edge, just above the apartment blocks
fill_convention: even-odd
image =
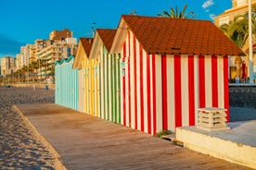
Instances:
[[[16,55],[20,53],[20,46],[25,45],[23,42],[7,37],[0,34],[0,55]]]

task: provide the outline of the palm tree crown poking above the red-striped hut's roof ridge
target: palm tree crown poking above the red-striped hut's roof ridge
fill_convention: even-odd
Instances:
[[[179,10],[178,6],[175,6],[173,8],[171,6],[170,12],[163,10],[162,13],[158,13],[159,17],[165,17],[165,18],[196,18],[197,15],[193,11],[186,12],[187,5],[184,6],[183,10]]]

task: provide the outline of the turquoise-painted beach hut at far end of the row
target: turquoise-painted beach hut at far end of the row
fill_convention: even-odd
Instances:
[[[72,69],[74,56],[55,63],[55,103],[78,109],[78,71]]]

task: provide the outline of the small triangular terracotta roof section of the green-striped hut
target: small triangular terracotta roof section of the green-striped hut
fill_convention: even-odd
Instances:
[[[109,52],[116,34],[116,30],[97,29],[96,31]]]

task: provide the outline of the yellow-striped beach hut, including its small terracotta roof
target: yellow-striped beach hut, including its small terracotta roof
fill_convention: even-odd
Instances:
[[[88,56],[92,48],[92,38],[80,38],[77,54],[73,62],[73,69],[78,71],[78,110],[83,113],[92,114],[92,102],[90,96],[90,61]]]

